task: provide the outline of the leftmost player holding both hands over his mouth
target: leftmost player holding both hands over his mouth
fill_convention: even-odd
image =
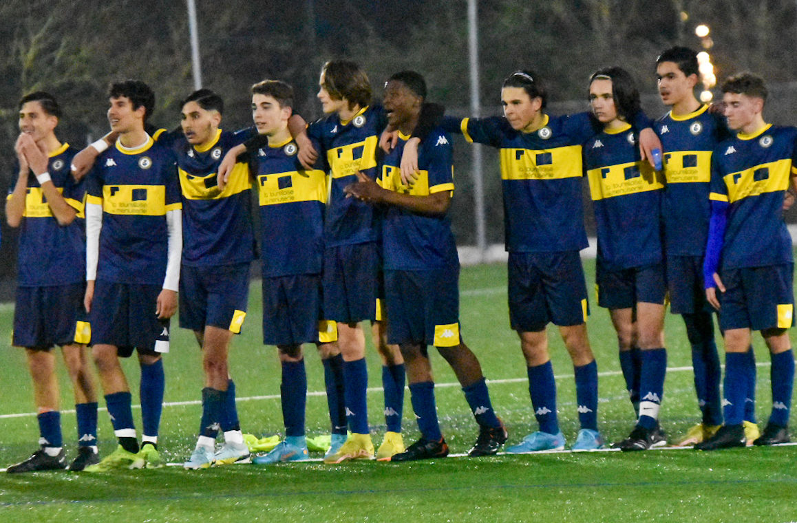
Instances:
[[[19,101],[18,175],[6,200],[6,220],[19,228],[14,340],[24,347],[36,402],[41,448],[8,472],[67,468],[53,345],[60,345],[73,384],[78,454],[69,470],[99,462],[96,393],[85,344],[84,184],[69,175],[76,150],[55,135],[61,108],[47,92]]]

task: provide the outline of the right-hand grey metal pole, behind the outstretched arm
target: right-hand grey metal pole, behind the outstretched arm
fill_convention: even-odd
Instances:
[[[479,33],[476,0],[468,0],[468,52],[470,62],[470,114],[480,116],[479,101]],[[473,158],[473,203],[476,211],[476,246],[480,261],[485,259],[487,238],[485,234],[485,187],[481,159],[481,146],[474,145]]]

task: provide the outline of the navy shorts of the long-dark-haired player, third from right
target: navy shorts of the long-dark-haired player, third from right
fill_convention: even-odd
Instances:
[[[637,303],[664,305],[667,285],[664,265],[607,270],[598,260],[595,266],[598,305],[607,309],[632,309]]]

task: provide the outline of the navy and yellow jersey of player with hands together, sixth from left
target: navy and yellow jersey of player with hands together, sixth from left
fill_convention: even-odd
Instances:
[[[401,181],[401,155],[409,136],[399,134],[398,145],[385,156],[379,184],[413,196],[453,192],[450,137],[438,128],[418,147],[418,179],[411,187]],[[385,269],[424,270],[459,265],[457,245],[446,214],[419,214],[401,206],[387,207],[382,222]]]

